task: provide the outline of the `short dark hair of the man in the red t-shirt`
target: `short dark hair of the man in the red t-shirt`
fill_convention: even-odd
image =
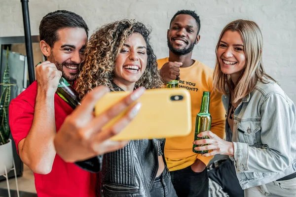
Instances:
[[[59,39],[57,31],[63,28],[83,28],[88,37],[88,27],[81,16],[67,10],[57,10],[46,14],[39,25],[40,40],[50,47]]]

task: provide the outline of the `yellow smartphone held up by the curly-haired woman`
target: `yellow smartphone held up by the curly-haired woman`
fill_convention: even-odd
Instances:
[[[95,115],[106,111],[129,92],[110,92],[95,106]],[[152,139],[188,135],[191,131],[191,102],[188,90],[146,90],[138,100],[142,107],[138,115],[112,140]],[[112,119],[104,128],[110,127],[124,112]],[[104,129],[103,128],[103,129]]]

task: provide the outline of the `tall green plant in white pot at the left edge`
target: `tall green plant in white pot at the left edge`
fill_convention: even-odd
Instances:
[[[6,50],[6,67],[3,73],[3,91],[0,96],[0,175],[5,174],[13,167],[12,142],[9,139],[8,106],[10,102],[10,76],[8,65],[9,49]],[[6,169],[5,169],[6,168]]]

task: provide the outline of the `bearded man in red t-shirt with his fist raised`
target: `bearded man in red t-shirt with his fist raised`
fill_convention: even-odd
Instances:
[[[63,76],[73,84],[88,37],[81,16],[66,10],[40,22],[40,48],[46,60],[36,67],[36,81],[9,106],[9,124],[17,151],[34,172],[38,197],[93,197],[96,174],[64,162],[53,139],[73,109],[57,94]]]

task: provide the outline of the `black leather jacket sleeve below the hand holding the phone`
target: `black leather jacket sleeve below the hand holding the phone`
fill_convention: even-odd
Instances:
[[[102,169],[103,155],[98,155],[81,162],[75,162],[75,164],[86,171],[96,173]]]

